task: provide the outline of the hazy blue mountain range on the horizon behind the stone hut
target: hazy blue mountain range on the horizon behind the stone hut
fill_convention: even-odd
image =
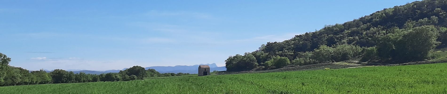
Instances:
[[[210,70],[214,71],[226,71],[227,68],[225,66],[218,67],[215,63],[212,64],[200,64],[200,65],[209,65]],[[176,66],[151,66],[146,67],[144,69],[155,69],[156,71],[160,73],[189,73],[189,74],[197,74],[198,72],[198,66],[199,65],[176,65]],[[127,68],[124,68],[122,70],[126,70]],[[52,72],[53,70],[47,70],[44,69],[47,73]],[[93,71],[93,70],[80,70],[80,69],[67,69],[67,71],[72,71],[75,74],[79,74],[80,72],[83,72],[85,74],[107,74],[107,73],[118,73],[120,70],[106,70],[106,71]]]

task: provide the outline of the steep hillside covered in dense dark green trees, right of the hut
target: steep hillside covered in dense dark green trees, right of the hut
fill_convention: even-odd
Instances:
[[[447,47],[447,0],[423,0],[372,13],[283,42],[268,42],[226,60],[228,71],[276,69],[286,65],[361,61],[402,63],[430,59]]]

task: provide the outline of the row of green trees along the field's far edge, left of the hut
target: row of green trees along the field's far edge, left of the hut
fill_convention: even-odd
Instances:
[[[33,84],[50,84],[50,83],[77,83],[77,82],[115,82],[115,81],[131,81],[143,80],[150,77],[168,77],[189,75],[183,73],[164,73],[160,74],[155,69],[145,70],[141,66],[133,66],[119,73],[107,74],[85,74],[83,72],[75,74],[72,71],[63,69],[55,69],[50,73],[40,69],[38,71],[29,71],[20,67],[9,65],[11,58],[0,53],[0,86],[17,86],[17,85],[33,85]]]

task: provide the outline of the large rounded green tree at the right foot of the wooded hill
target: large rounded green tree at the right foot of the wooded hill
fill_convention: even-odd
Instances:
[[[436,47],[438,30],[434,26],[394,29],[394,33],[380,37],[377,53],[382,59],[421,61]]]

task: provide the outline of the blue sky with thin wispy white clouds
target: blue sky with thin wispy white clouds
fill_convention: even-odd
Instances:
[[[38,69],[216,63],[414,0],[0,0],[0,53]]]

